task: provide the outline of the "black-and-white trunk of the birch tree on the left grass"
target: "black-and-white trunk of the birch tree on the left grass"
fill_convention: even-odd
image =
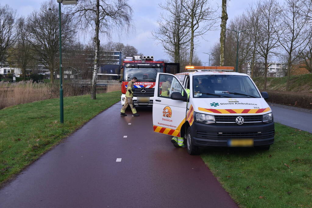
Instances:
[[[95,37],[94,37],[96,49],[95,49],[95,57],[94,57],[93,77],[92,77],[92,83],[91,83],[91,99],[96,99],[96,79],[97,79],[97,70],[99,67],[99,53],[100,53],[99,13],[100,13],[100,0],[96,0]]]

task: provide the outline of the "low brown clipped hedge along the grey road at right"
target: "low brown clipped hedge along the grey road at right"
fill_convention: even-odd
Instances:
[[[312,109],[312,93],[267,90],[267,102]]]

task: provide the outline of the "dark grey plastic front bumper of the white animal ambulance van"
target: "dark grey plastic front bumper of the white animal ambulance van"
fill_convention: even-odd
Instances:
[[[254,146],[274,143],[274,122],[257,125],[214,125],[193,122],[191,126],[196,146],[227,146],[230,139],[253,139]]]

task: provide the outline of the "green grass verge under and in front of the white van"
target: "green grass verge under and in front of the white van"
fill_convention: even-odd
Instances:
[[[275,124],[269,151],[214,149],[201,155],[241,207],[312,207],[312,134]]]

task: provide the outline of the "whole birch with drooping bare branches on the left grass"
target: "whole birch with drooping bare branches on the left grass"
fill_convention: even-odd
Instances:
[[[82,29],[89,30],[91,27],[94,33],[95,58],[93,77],[91,80],[91,99],[96,99],[96,80],[99,69],[100,53],[100,32],[110,35],[112,28],[129,27],[132,21],[132,8],[128,5],[127,0],[84,0],[79,1],[74,7],[73,14],[79,17]],[[129,28],[128,28],[129,29]]]

